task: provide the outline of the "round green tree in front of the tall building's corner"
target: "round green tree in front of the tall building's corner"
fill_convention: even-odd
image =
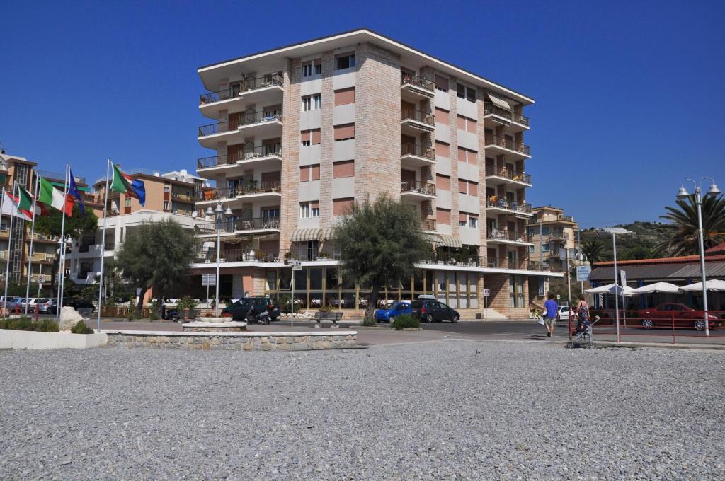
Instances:
[[[375,202],[355,202],[335,227],[335,238],[341,246],[343,275],[371,289],[366,324],[375,324],[373,312],[381,288],[410,282],[415,263],[431,253],[413,206],[385,195]]]

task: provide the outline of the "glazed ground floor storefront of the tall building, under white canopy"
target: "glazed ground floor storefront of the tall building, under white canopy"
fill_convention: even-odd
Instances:
[[[310,262],[302,269],[277,264],[225,265],[220,267],[220,298],[272,296],[289,304],[294,298],[296,310],[332,309],[361,311],[368,306],[370,286],[346,277],[336,262]],[[532,296],[543,296],[547,275],[543,272],[438,266],[421,267],[409,282],[388,286],[378,293],[378,307],[391,301],[410,301],[423,294],[435,296],[457,309],[463,317],[476,317],[484,308],[492,308],[507,317],[528,317]],[[500,271],[500,272],[496,272]],[[213,266],[195,267],[192,288],[204,297],[202,275],[215,274]],[[548,273],[546,273],[548,274]],[[488,296],[486,296],[488,294]],[[215,295],[215,288],[210,288]]]

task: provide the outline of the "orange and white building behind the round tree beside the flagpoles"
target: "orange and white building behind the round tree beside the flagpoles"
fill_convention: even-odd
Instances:
[[[98,230],[75,239],[70,253],[67,254],[70,278],[78,285],[99,281],[104,243],[104,259],[108,261],[115,257],[128,233],[133,233],[133,230],[145,222],[172,219],[188,229],[194,229],[194,224],[198,222],[194,203],[203,196],[204,179],[191,175],[186,170],[161,173],[136,169],[125,173],[144,181],[145,206],[141,206],[136,198],[109,191],[104,207],[106,179],[101,177],[96,180],[93,196],[96,201],[94,212],[99,218]],[[105,239],[101,225],[104,209],[107,214]]]

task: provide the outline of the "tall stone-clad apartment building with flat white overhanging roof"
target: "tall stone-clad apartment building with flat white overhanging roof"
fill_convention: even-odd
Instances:
[[[207,65],[213,151],[197,173],[221,204],[225,297],[289,293],[297,305],[364,306],[365,286],[339,273],[333,230],[354,201],[388,194],[415,208],[435,246],[387,299],[433,294],[456,309],[528,313],[550,272],[530,265],[533,99],[370,30],[354,30]],[[196,275],[214,272],[218,224],[199,227]],[[292,272],[293,256],[303,269]],[[471,314],[472,312],[465,312]]]

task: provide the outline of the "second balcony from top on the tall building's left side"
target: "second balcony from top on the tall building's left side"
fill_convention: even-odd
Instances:
[[[281,136],[282,119],[281,109],[239,114],[239,117],[226,122],[202,125],[199,127],[198,140],[202,147],[216,149],[220,141],[234,144],[243,143],[250,135],[260,138]]]

